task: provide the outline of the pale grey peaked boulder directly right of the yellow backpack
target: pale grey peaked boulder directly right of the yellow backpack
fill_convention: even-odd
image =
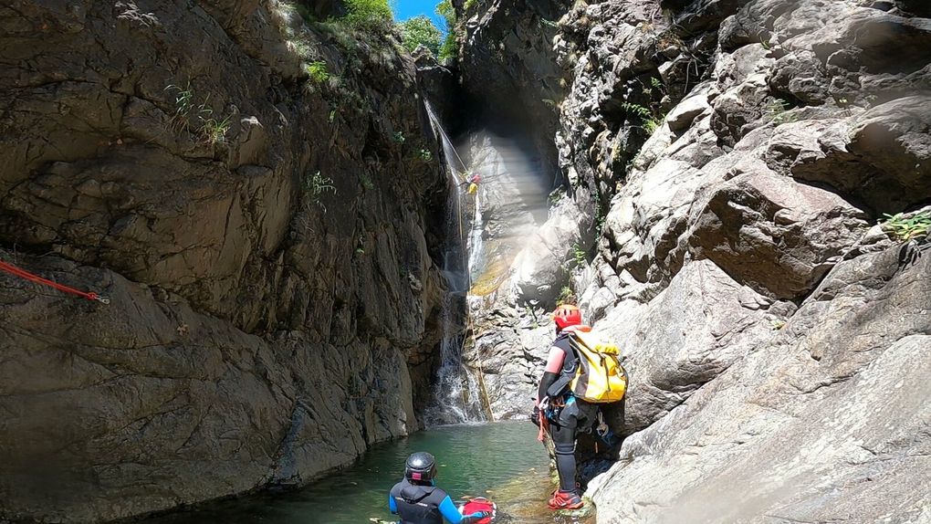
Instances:
[[[687,263],[648,304],[621,302],[595,329],[619,343],[630,378],[628,436],[663,418],[774,334],[794,306],[736,283],[712,262]],[[701,304],[701,307],[695,307]]]

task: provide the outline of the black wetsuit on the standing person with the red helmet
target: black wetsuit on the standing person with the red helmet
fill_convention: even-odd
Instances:
[[[562,360],[562,371],[543,373],[540,387],[537,390],[537,398],[546,398],[550,396],[550,393],[558,395],[560,392],[547,390],[560,379],[560,376],[566,374],[572,376],[574,373],[576,356],[570,343],[570,336],[569,332],[562,332],[553,342],[554,347],[560,348],[566,354]],[[560,490],[574,491],[575,438],[580,429],[588,430],[598,422],[598,406],[572,395],[557,395],[552,397],[564,398],[566,405],[554,412],[554,416],[549,419],[549,435],[553,438],[553,445],[556,448],[556,469],[560,474]]]

